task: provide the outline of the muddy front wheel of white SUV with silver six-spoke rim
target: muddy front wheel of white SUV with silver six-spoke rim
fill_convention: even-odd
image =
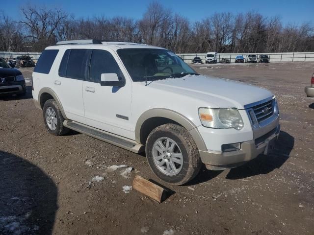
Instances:
[[[167,140],[169,140],[168,148]],[[164,154],[157,150],[157,148],[159,150],[163,149],[160,147],[160,141],[166,150]],[[155,148],[156,146],[157,148]],[[171,150],[172,146],[174,148]],[[200,154],[192,136],[185,128],[176,124],[164,124],[156,127],[147,138],[145,150],[148,164],[155,175],[162,181],[172,185],[187,183],[199,173],[202,167]],[[167,150],[169,150],[169,153],[167,153]],[[174,157],[175,154],[176,156],[181,154],[181,158]],[[173,161],[174,159],[176,161]],[[178,163],[180,159],[182,159],[182,164]],[[162,163],[164,165],[157,166],[157,164]],[[171,164],[174,164],[177,172],[166,172],[167,169],[171,169],[167,167]]]

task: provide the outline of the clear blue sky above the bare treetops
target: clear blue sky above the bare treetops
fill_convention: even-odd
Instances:
[[[17,19],[20,17],[20,6],[26,2],[35,5],[44,4],[48,7],[62,7],[76,17],[120,15],[139,19],[150,0],[3,0],[0,11]],[[255,10],[267,17],[278,15],[284,24],[314,23],[314,0],[159,0],[159,2],[192,22],[210,16],[214,12],[225,11],[236,14]]]

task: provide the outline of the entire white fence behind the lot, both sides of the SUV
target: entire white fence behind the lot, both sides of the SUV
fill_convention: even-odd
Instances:
[[[38,60],[41,52],[7,52],[0,51],[0,57],[3,58],[16,58],[20,55],[29,55],[34,60]],[[246,54],[250,53],[218,53],[218,62],[222,58],[230,59],[231,63],[235,62],[235,57],[237,55],[243,55],[245,57]],[[288,52],[288,53],[251,53],[255,55],[266,54],[269,56],[270,62],[295,62],[295,61],[314,61],[314,52]],[[192,63],[192,59],[194,57],[201,57],[203,62],[205,62],[206,53],[190,53],[190,54],[177,54],[182,57],[183,61],[186,63]]]

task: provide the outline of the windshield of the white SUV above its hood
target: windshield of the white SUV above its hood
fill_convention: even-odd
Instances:
[[[165,49],[128,48],[118,49],[123,64],[134,82],[198,75],[177,55]]]

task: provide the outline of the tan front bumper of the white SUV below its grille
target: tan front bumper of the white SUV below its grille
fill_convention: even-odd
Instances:
[[[241,149],[237,151],[217,153],[199,150],[201,160],[210,170],[223,170],[245,164],[260,154],[268,154],[279,133],[280,125],[256,140],[242,142]]]

